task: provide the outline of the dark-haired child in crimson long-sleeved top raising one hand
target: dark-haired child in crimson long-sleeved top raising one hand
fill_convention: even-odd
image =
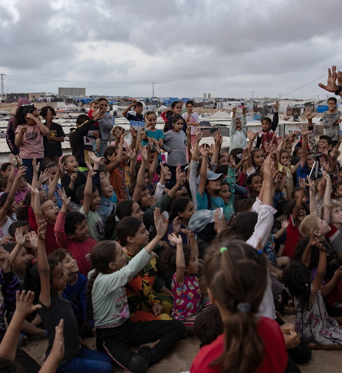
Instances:
[[[81,213],[67,213],[70,197],[63,191],[59,192],[63,201],[61,211],[58,213],[55,224],[55,236],[59,247],[72,253],[80,269],[86,275],[90,271],[89,255],[96,241],[89,237],[89,227],[84,215]]]

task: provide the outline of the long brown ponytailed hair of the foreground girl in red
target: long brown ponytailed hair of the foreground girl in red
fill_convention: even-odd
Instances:
[[[204,272],[212,297],[229,312],[223,318],[223,354],[211,365],[221,364],[225,372],[253,373],[264,354],[257,313],[266,289],[267,260],[243,241],[226,240],[210,248]]]

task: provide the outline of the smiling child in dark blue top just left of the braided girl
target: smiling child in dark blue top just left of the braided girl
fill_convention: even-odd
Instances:
[[[77,261],[72,258],[70,251],[58,249],[53,255],[68,272],[66,288],[62,295],[71,303],[72,310],[77,318],[79,334],[82,338],[92,336],[90,328],[85,328],[87,321],[87,277],[79,273]]]

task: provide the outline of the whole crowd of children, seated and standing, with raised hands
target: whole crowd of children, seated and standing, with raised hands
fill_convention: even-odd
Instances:
[[[333,69],[321,86],[331,91],[336,79],[342,85]],[[18,103],[9,124],[1,370],[145,372],[188,333],[201,342],[191,373],[300,372],[311,349],[342,349],[336,99],[317,143],[310,109],[281,138],[278,102],[256,133],[247,109],[238,118],[233,108],[229,151],[219,130],[212,146],[200,144],[192,101],[162,113],[162,131],[133,100],[127,133],[107,103],[79,115],[72,154],[62,155],[52,107],[42,108],[42,123],[33,105]],[[48,340],[41,367],[20,349],[33,335]],[[96,337],[96,350],[86,337]]]

